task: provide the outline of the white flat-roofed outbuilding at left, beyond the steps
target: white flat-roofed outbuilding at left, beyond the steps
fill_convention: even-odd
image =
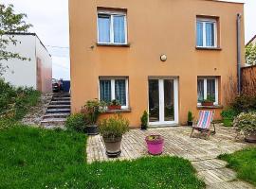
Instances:
[[[32,87],[42,92],[51,92],[52,60],[45,46],[36,34],[15,34],[15,39],[21,43],[9,44],[7,50],[30,60],[1,61],[7,67],[3,75],[5,80],[16,87]],[[38,60],[41,60],[40,65]]]

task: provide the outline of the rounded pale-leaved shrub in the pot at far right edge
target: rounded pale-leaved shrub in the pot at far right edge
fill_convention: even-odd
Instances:
[[[234,119],[234,127],[244,133],[256,132],[256,112],[241,112]]]

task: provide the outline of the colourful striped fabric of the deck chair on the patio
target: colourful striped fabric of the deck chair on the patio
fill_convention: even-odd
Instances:
[[[200,111],[196,128],[210,129],[210,123],[213,120],[214,111]]]

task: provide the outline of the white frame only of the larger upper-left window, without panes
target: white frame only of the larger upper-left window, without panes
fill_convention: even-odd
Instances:
[[[102,43],[100,42],[100,31],[99,31],[99,14],[105,14],[110,16],[110,42],[109,43]],[[124,35],[125,35],[125,42],[124,43],[115,43],[114,42],[114,16],[124,16]],[[102,44],[127,44],[127,18],[126,13],[121,11],[98,11],[97,14],[97,32],[98,32],[98,43]]]

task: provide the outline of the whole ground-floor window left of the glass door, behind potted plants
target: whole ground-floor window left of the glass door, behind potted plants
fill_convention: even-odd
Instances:
[[[100,99],[117,99],[122,109],[128,108],[128,77],[100,77]]]

